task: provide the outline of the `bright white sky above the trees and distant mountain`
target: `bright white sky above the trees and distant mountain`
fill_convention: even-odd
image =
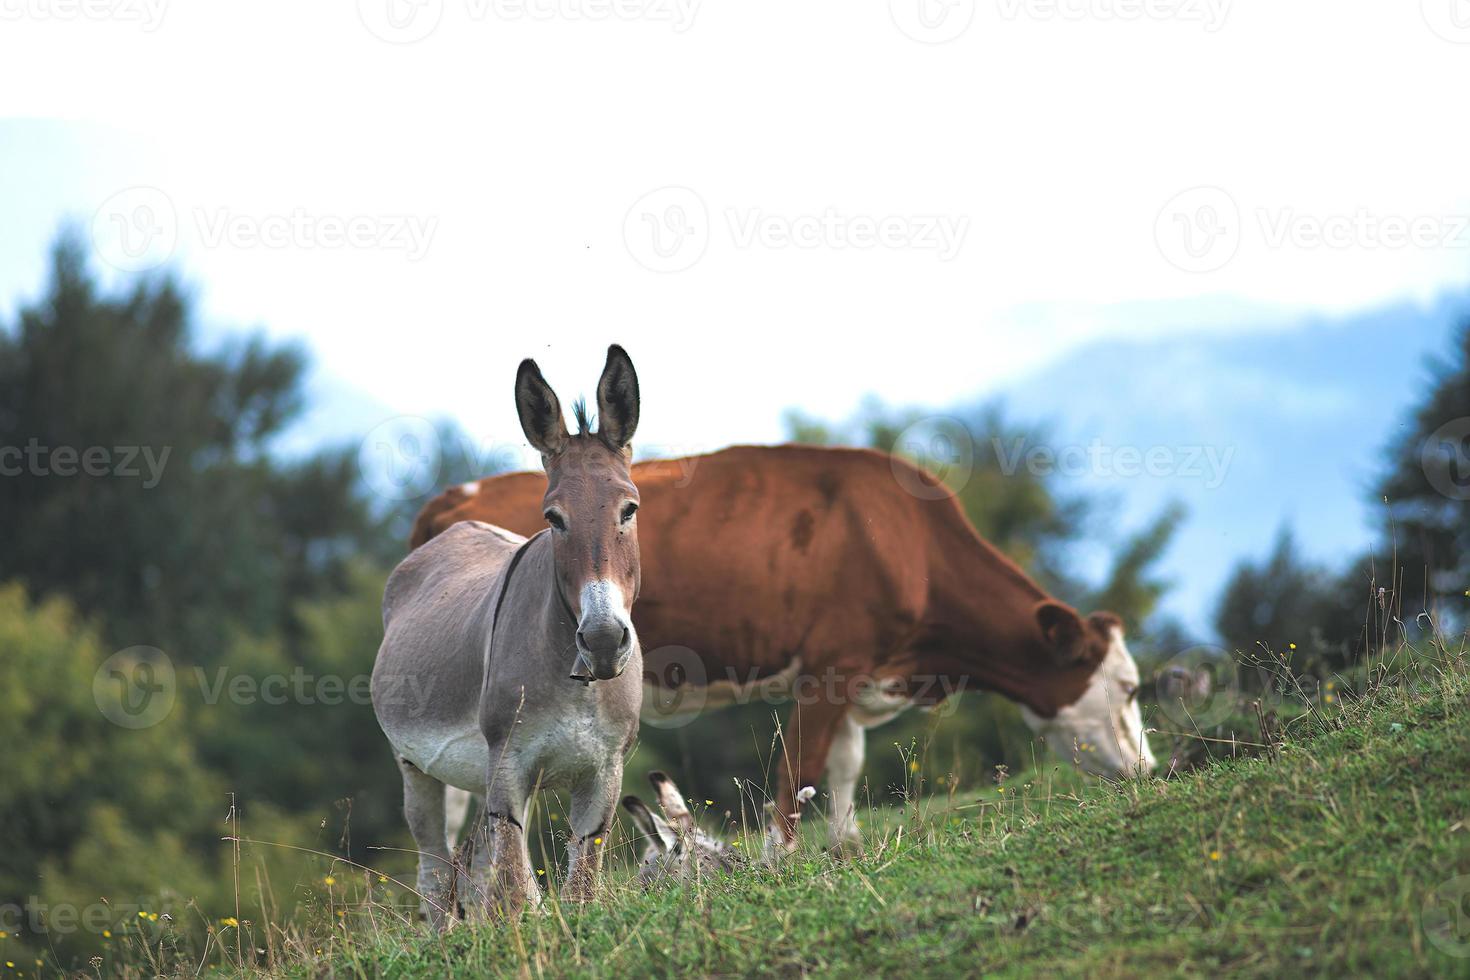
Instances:
[[[450,416],[519,445],[516,363],[589,391],[610,341],[638,364],[642,445],[670,453],[869,398],[1008,392],[1055,417],[1082,382],[1048,398],[1048,378],[1100,345],[1132,354],[1086,376],[1091,411],[1135,417],[1147,376],[1169,413],[1200,404],[1195,375],[1144,359],[1367,323],[1352,342],[1411,364],[1429,334],[1401,344],[1389,316],[1369,339],[1372,311],[1432,319],[1470,279],[1466,0],[0,0],[0,317],[71,219],[110,276],[178,270],[209,338],[303,342],[323,435]],[[1341,386],[1289,395],[1344,410]],[[1283,485],[1272,522],[1361,500],[1329,470]]]

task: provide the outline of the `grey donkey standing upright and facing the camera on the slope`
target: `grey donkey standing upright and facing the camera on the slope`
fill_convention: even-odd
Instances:
[[[642,702],[631,616],[639,586],[629,475],[638,404],[632,361],[613,345],[597,385],[597,432],[578,404],[572,435],[535,361],[522,361],[516,410],[541,453],[550,527],[528,539],[462,523],[388,579],[373,710],[403,773],[417,889],[435,927],[454,911],[448,833],[457,821],[447,823],[445,798],[456,804],[463,793],[450,788],[484,802],[488,837],[473,851],[476,879],[488,877],[488,911],[514,914],[539,899],[523,832],[537,788],[570,795],[563,895],[594,893]]]

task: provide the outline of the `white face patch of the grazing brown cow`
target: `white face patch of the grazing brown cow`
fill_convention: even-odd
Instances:
[[[1113,630],[1107,655],[1092,673],[1086,691],[1075,704],[1044,718],[1022,707],[1022,717],[1032,732],[1042,736],[1063,758],[1097,776],[1132,776],[1154,768],[1154,752],[1144,735],[1144,716],[1138,699],[1138,664],[1127,652],[1123,630]]]

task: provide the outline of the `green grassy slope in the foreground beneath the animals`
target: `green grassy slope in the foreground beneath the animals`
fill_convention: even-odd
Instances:
[[[619,868],[594,907],[444,937],[359,923],[288,970],[1470,976],[1470,920],[1424,920],[1470,874],[1467,702],[1464,674],[1438,676],[1308,718],[1270,757],[1080,793],[1013,779],[886,814],[861,858],[650,895]]]

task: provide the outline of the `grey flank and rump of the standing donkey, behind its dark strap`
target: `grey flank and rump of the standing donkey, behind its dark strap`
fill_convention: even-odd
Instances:
[[[500,576],[525,538],[463,522],[404,558],[382,601],[373,710],[400,760],[484,792],[479,692]]]

